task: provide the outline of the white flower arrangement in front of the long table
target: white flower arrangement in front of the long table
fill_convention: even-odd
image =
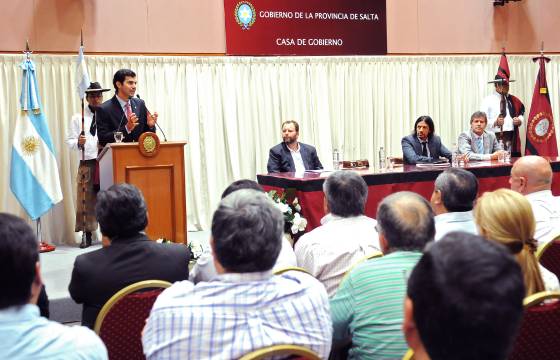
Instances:
[[[284,215],[284,232],[293,238],[303,235],[307,219],[301,216],[301,206],[295,196],[295,189],[286,189],[284,192],[270,190],[267,194]]]

